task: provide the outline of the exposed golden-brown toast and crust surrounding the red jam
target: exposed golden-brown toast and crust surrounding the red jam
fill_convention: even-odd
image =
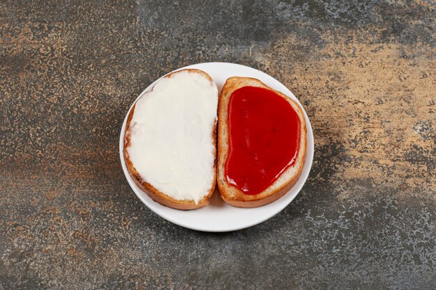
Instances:
[[[265,88],[272,92],[277,93],[283,99],[292,106],[293,110],[297,114],[295,120],[299,120],[299,149],[295,153],[296,157],[294,163],[288,166],[286,170],[279,173],[279,177],[272,182],[265,190],[260,193],[249,195],[245,194],[240,188],[231,184],[232,180],[228,180],[226,177],[226,161],[229,155],[229,145],[230,145],[230,130],[228,124],[228,104],[231,99],[231,95],[235,90],[243,87],[257,87]],[[286,103],[285,103],[286,104]],[[297,130],[297,129],[296,129]],[[298,141],[295,141],[298,143]],[[248,147],[248,145],[247,145]],[[233,76],[227,79],[224,87],[219,95],[218,104],[218,175],[217,175],[217,185],[219,192],[221,193],[221,198],[228,204],[234,207],[260,207],[270,202],[281,198],[285,193],[287,193],[290,188],[297,182],[299,176],[301,175],[302,168],[304,165],[304,160],[306,158],[306,122],[304,119],[304,113],[302,108],[294,102],[290,97],[287,97],[277,90],[266,86],[264,83],[258,79],[252,79],[249,77],[238,77]],[[243,168],[241,170],[244,170]]]

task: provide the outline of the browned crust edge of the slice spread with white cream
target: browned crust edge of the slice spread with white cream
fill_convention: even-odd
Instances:
[[[178,72],[187,71],[192,72],[196,74],[201,74],[202,76],[205,76],[210,81],[213,81],[212,78],[209,76],[209,74],[203,72],[202,70],[194,70],[194,69],[185,69],[185,70],[178,70],[177,72],[171,72],[171,74],[167,74],[164,76],[165,78],[171,77],[173,74],[176,74]],[[151,89],[153,90],[153,88]],[[151,92],[149,90],[148,92]],[[148,92],[144,93],[143,95],[146,95]],[[205,197],[198,201],[198,204],[194,202],[194,200],[176,200],[174,198],[171,198],[171,196],[166,195],[165,193],[162,193],[161,191],[157,190],[154,186],[149,184],[148,182],[145,182],[141,176],[139,175],[139,172],[134,168],[132,160],[129,158],[129,154],[127,153],[127,148],[130,147],[130,121],[132,120],[134,108],[136,106],[136,103],[132,106],[132,109],[130,110],[129,115],[127,116],[127,123],[125,125],[125,134],[124,134],[124,147],[123,147],[123,154],[125,159],[125,164],[127,166],[127,170],[129,171],[130,176],[134,180],[134,183],[137,184],[139,188],[143,192],[145,192],[152,200],[155,202],[158,202],[159,204],[164,205],[165,207],[171,207],[173,209],[182,209],[182,210],[189,210],[189,209],[199,209],[201,207],[205,207],[209,204],[210,196],[212,195],[213,191],[215,190],[215,184],[217,183],[217,150],[214,152],[215,161],[214,161],[214,177],[213,182],[210,185],[210,191],[208,192],[208,195],[205,195]],[[214,147],[217,147],[217,124],[214,125],[212,128],[212,140]]]

